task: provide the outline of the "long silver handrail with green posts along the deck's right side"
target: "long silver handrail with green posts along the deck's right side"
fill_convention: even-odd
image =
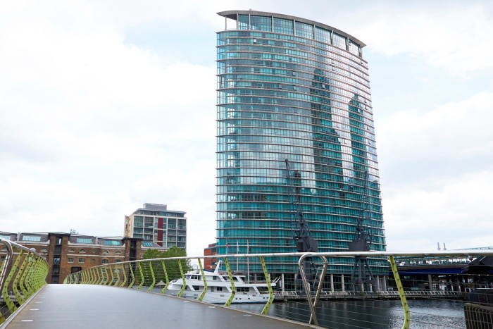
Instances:
[[[308,305],[310,306],[310,311],[311,311],[311,317],[309,320],[309,323],[313,323],[315,325],[318,325],[318,319],[316,317],[316,305],[318,300],[322,295],[324,296],[354,296],[358,297],[361,295],[361,292],[354,292],[354,291],[333,291],[333,292],[323,292],[322,287],[323,287],[323,278],[325,278],[325,272],[323,275],[320,275],[320,280],[318,282],[318,289],[316,290],[315,296],[312,296],[311,294],[311,289],[308,285],[308,280],[306,280],[306,275],[304,272],[303,268],[303,261],[307,257],[311,257],[313,259],[319,258],[322,260],[322,265],[324,268],[327,268],[328,266],[328,261],[327,259],[332,258],[332,257],[343,257],[343,258],[354,258],[355,256],[366,256],[369,258],[378,258],[378,257],[386,257],[389,259],[389,266],[391,266],[392,262],[391,259],[397,256],[468,256],[470,258],[471,256],[493,256],[493,250],[447,250],[447,251],[430,251],[430,252],[318,252],[318,253],[270,253],[270,254],[221,254],[221,255],[211,255],[211,256],[180,256],[180,257],[170,257],[170,258],[158,258],[158,259],[141,259],[138,261],[123,261],[123,262],[118,262],[118,263],[113,263],[113,264],[102,264],[99,266],[94,266],[92,268],[85,269],[83,271],[80,271],[79,273],[73,273],[67,276],[65,278],[64,283],[86,283],[86,284],[99,284],[99,285],[112,285],[114,287],[124,287],[125,282],[130,283],[128,287],[132,287],[133,283],[136,282],[139,283],[137,290],[139,290],[142,285],[144,284],[144,273],[142,268],[146,267],[146,271],[150,271],[149,273],[153,276],[153,283],[155,283],[155,278],[154,278],[154,271],[155,271],[155,265],[153,264],[152,266],[145,266],[144,263],[146,262],[161,262],[163,264],[164,268],[164,273],[166,274],[166,286],[161,290],[161,293],[166,292],[168,285],[170,284],[170,281],[168,280],[168,274],[166,273],[166,266],[164,266],[164,263],[168,261],[186,261],[186,260],[191,260],[191,259],[197,259],[200,262],[200,259],[225,259],[227,261],[227,258],[251,258],[251,257],[257,257],[257,258],[267,258],[267,257],[286,257],[286,256],[297,256],[299,257],[299,268],[301,273],[302,280],[304,281],[304,292],[273,292],[272,287],[269,287],[269,299],[268,303],[266,304],[266,307],[264,307],[262,314],[267,314],[268,313],[268,306],[270,306],[270,303],[273,300],[274,294],[276,296],[280,297],[289,297],[289,296],[294,296],[294,297],[306,297],[308,300]],[[181,262],[178,262],[179,265],[181,265]],[[392,267],[392,266],[391,266]],[[105,271],[103,271],[105,269]],[[126,270],[125,270],[126,269]],[[169,268],[168,268],[169,269]],[[114,272],[116,271],[116,272]],[[120,280],[122,280],[122,276],[119,275],[119,271],[123,271],[125,274],[125,271],[130,272],[129,277],[125,277],[125,282],[120,283]],[[266,267],[263,266],[263,271],[266,280],[269,282],[269,275],[266,272]],[[232,298],[235,297],[235,283],[232,280],[232,276],[235,275],[232,273],[231,269],[229,266],[227,266],[227,276],[230,279],[230,287],[232,288],[232,294],[230,298],[228,299],[228,302],[225,303],[225,306],[229,306],[230,302],[232,301]],[[109,281],[109,278],[112,278],[113,282]],[[183,272],[181,272],[181,280],[185,283],[185,276]],[[81,281],[82,280],[82,281]],[[149,281],[151,278],[149,278]],[[402,328],[409,328],[409,323],[410,323],[410,314],[409,310],[406,306],[406,295],[408,296],[419,296],[419,295],[449,295],[449,296],[459,296],[461,292],[447,292],[447,294],[444,294],[445,292],[411,292],[411,291],[406,291],[404,292],[404,289],[402,289],[402,285],[400,283],[399,279],[399,273],[397,273],[397,270],[394,271],[394,280],[396,281],[396,285],[398,288],[398,291],[380,291],[380,292],[365,292],[365,294],[372,295],[375,294],[375,296],[393,296],[393,297],[399,297],[401,299],[401,303],[403,305],[404,309],[404,324]],[[140,282],[139,282],[140,281]],[[182,287],[185,287],[185,285],[182,285]],[[399,289],[400,287],[400,289]],[[179,294],[180,296],[181,294]],[[201,293],[201,298],[206,295],[205,290],[202,291]]]

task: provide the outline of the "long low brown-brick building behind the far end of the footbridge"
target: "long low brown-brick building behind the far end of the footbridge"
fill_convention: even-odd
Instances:
[[[135,261],[148,249],[163,249],[154,242],[142,242],[141,239],[65,232],[0,232],[0,238],[35,249],[44,256],[49,266],[48,283],[63,283],[70,273],[103,264]],[[0,248],[0,261],[3,262],[7,249],[4,244],[0,244]]]

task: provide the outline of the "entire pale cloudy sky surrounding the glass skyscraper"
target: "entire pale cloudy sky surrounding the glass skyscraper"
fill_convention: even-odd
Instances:
[[[216,241],[219,11],[366,43],[387,250],[493,246],[491,1],[2,1],[0,231],[123,235],[145,202]]]

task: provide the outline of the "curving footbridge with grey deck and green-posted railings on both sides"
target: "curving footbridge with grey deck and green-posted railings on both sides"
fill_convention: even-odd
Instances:
[[[399,297],[401,301],[401,314],[397,315],[402,321],[402,328],[409,328],[411,323],[411,311],[408,307],[406,295],[419,297],[416,292],[404,292],[401,278],[397,271],[394,258],[399,257],[425,257],[425,256],[471,256],[471,251],[446,251],[446,252],[335,252],[335,253],[294,253],[294,254],[228,254],[199,257],[175,257],[165,259],[146,259],[140,261],[127,261],[121,263],[104,264],[87,268],[78,273],[73,273],[65,278],[64,285],[46,285],[48,264],[46,260],[31,249],[20,244],[0,239],[4,244],[7,255],[1,263],[0,294],[1,314],[0,328],[55,328],[56,326],[71,328],[92,328],[98,325],[101,328],[161,328],[164,326],[180,326],[181,328],[313,328],[313,326],[333,327],[333,323],[325,318],[325,302],[320,302],[324,297],[344,297],[345,299],[358,298],[369,299],[371,296],[385,299],[388,295]],[[482,256],[493,256],[492,250],[481,250]],[[304,316],[294,316],[299,321],[284,321],[270,316],[270,306],[275,295],[290,294],[282,287],[272,287],[270,274],[267,271],[266,262],[273,258],[299,257],[299,268],[302,285],[294,282],[295,290],[304,295],[302,302],[290,302],[286,308],[289,314],[299,310],[304,311]],[[239,285],[239,276],[230,271],[227,259],[249,258],[259,261],[263,268],[263,278],[266,280],[263,286],[268,290],[261,296],[265,299],[265,305],[256,311],[244,312],[231,309],[231,304],[240,302],[244,297],[247,285]],[[360,278],[360,282],[351,280],[351,283],[339,283],[337,287],[334,277],[337,273],[327,273],[329,261],[337,257],[380,257],[389,261],[393,278],[385,278],[385,290],[380,288],[381,278]],[[211,295],[207,285],[213,285],[213,281],[206,278],[201,266],[201,259],[223,259],[227,271],[222,273],[225,294],[219,304],[206,304],[201,302]],[[189,286],[186,281],[183,266],[187,260],[194,259],[198,262],[200,271],[192,275],[195,284]],[[317,275],[307,278],[304,264],[306,259],[318,259]],[[175,268],[173,268],[175,266]],[[177,271],[179,270],[179,271]],[[168,273],[173,273],[168,275]],[[171,276],[171,277],[170,277]],[[181,277],[181,278],[180,278]],[[484,275],[483,275],[484,277]],[[176,296],[168,296],[167,288],[172,284],[170,279],[182,282],[181,290],[174,290]],[[329,278],[329,283],[325,280]],[[367,280],[368,279],[368,280]],[[202,282],[200,282],[202,281]],[[272,281],[273,283],[275,282]],[[160,285],[157,288],[156,286]],[[256,283],[251,283],[255,285]],[[259,283],[260,284],[260,283]],[[235,285],[238,285],[235,287]],[[188,290],[187,290],[187,289]],[[227,288],[227,289],[226,289]],[[392,289],[389,289],[392,288]],[[301,289],[301,290],[300,290]],[[184,294],[184,291],[192,294]],[[277,291],[274,291],[277,290]],[[389,291],[390,290],[390,291]],[[308,293],[306,293],[308,292]],[[187,295],[189,299],[182,298]],[[294,295],[294,294],[292,294]],[[435,292],[423,293],[427,296],[436,296]],[[217,296],[217,295],[216,295]],[[348,298],[351,297],[351,298]],[[217,301],[216,301],[217,302]],[[320,303],[319,303],[320,302]],[[241,302],[240,302],[241,303]],[[294,307],[293,307],[294,305]],[[386,306],[377,306],[384,309]],[[373,318],[369,309],[364,314],[368,325],[375,327],[377,318]],[[274,312],[275,313],[275,312]],[[491,312],[493,314],[493,311]],[[320,316],[320,321],[318,321]],[[325,321],[325,322],[323,322]],[[328,321],[328,322],[327,322]],[[313,325],[312,325],[313,324]],[[363,326],[362,328],[369,328]],[[392,327],[394,328],[394,327]]]

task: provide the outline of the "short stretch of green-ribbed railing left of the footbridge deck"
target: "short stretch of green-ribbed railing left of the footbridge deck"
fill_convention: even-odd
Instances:
[[[6,321],[43,285],[46,285],[48,263],[34,249],[0,238],[0,324]]]

